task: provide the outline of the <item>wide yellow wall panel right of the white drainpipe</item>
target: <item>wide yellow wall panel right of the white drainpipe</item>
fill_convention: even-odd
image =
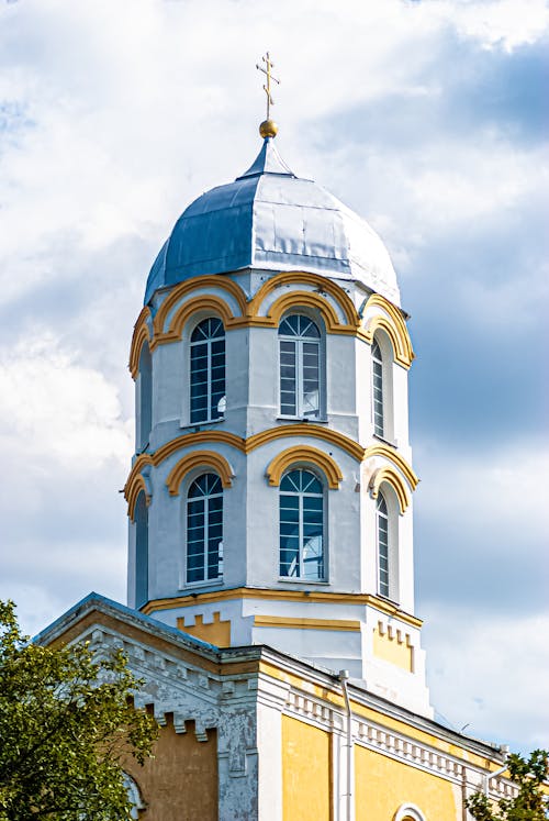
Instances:
[[[392,821],[403,803],[427,821],[461,821],[459,791],[450,781],[355,746],[356,821]]]

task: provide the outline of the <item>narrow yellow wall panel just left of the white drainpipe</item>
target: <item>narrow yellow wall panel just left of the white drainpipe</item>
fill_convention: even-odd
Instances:
[[[330,736],[282,715],[283,821],[330,821]]]

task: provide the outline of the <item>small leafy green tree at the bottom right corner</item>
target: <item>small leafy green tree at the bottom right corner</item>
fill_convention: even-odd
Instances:
[[[528,758],[512,754],[506,764],[518,789],[516,796],[494,803],[483,792],[475,792],[467,801],[471,816],[475,821],[546,821],[549,752],[535,750]]]

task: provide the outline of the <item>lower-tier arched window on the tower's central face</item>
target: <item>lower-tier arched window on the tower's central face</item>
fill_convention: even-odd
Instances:
[[[322,581],[324,488],[310,470],[290,470],[280,482],[280,575]]]

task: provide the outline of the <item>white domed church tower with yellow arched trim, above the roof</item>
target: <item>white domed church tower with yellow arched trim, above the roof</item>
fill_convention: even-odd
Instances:
[[[272,122],[262,137],[148,277],[128,603],[220,647],[345,668],[430,717],[396,276],[372,229],[281,159]]]

